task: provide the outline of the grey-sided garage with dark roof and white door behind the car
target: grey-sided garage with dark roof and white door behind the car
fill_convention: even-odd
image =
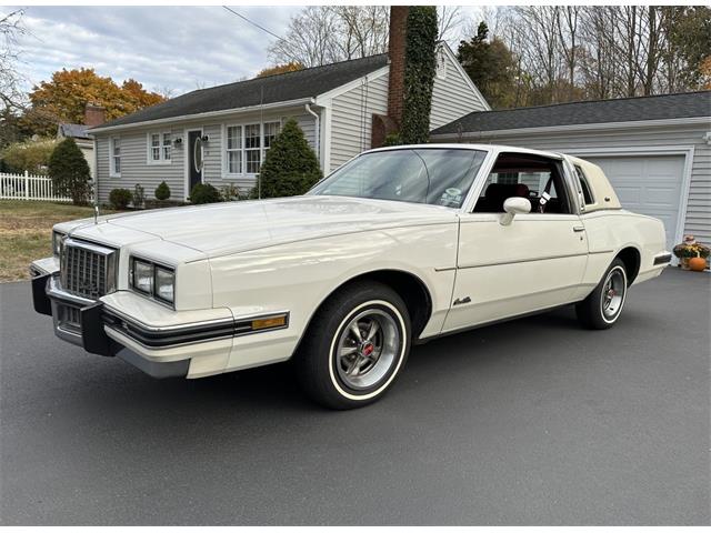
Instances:
[[[664,222],[669,250],[684,234],[711,243],[711,91],[472,112],[431,139],[578,155],[623,208]]]

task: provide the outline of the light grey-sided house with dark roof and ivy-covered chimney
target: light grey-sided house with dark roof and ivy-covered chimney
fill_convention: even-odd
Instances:
[[[379,145],[382,131],[373,124],[387,118],[389,102],[403,100],[404,39],[391,41],[388,53],[192,91],[92,128],[99,202],[137,183],[151,199],[162,181],[172,200],[187,199],[200,182],[248,191],[289,118],[329,173]],[[488,109],[451,49],[439,43],[431,128]]]

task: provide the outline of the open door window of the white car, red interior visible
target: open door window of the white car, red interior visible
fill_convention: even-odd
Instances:
[[[559,161],[531,154],[502,153],[481,190],[474,212],[502,213],[508,198],[531,202],[532,213],[570,213]]]

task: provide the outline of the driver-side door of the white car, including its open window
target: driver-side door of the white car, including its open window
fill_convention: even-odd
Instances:
[[[588,239],[570,208],[560,162],[501,154],[497,164],[474,212],[461,217],[444,331],[569,303],[582,281]],[[511,197],[529,199],[532,212],[503,225],[503,202]]]

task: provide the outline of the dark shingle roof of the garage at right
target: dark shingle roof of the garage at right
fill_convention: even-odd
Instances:
[[[432,134],[711,115],[711,91],[478,111]]]

